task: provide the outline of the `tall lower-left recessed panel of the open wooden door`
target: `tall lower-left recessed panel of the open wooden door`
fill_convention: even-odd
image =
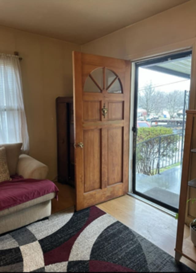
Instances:
[[[101,186],[100,134],[100,129],[84,131],[85,193],[100,189]]]

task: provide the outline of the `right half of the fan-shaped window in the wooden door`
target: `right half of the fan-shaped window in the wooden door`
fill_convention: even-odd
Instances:
[[[105,70],[105,77],[106,77],[107,92],[109,92],[109,93],[122,93],[122,90],[121,90],[122,88],[121,88],[120,81],[119,81],[119,79],[116,79],[117,76],[111,70],[109,70],[109,69]],[[111,86],[110,86],[110,84],[111,84]]]

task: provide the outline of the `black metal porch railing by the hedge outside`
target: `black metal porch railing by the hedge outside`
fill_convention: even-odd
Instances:
[[[136,170],[147,175],[160,174],[160,168],[182,162],[183,134],[153,137],[136,145]]]

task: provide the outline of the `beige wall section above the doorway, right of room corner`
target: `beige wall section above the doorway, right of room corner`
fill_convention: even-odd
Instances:
[[[195,14],[196,1],[191,0],[84,44],[82,52],[115,58],[142,57],[160,47],[195,38]]]

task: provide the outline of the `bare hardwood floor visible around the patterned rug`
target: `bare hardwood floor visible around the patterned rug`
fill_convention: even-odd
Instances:
[[[75,204],[74,188],[57,182],[55,184],[59,189],[59,193],[58,201],[56,199],[52,200],[52,213]],[[109,213],[165,252],[168,252],[171,256],[175,256],[177,220],[173,216],[129,195],[104,202],[97,205],[97,207]],[[188,247],[196,252],[196,248],[189,241],[189,227],[186,225],[184,237],[187,238]],[[196,271],[196,265],[188,259],[182,257],[181,262]]]

